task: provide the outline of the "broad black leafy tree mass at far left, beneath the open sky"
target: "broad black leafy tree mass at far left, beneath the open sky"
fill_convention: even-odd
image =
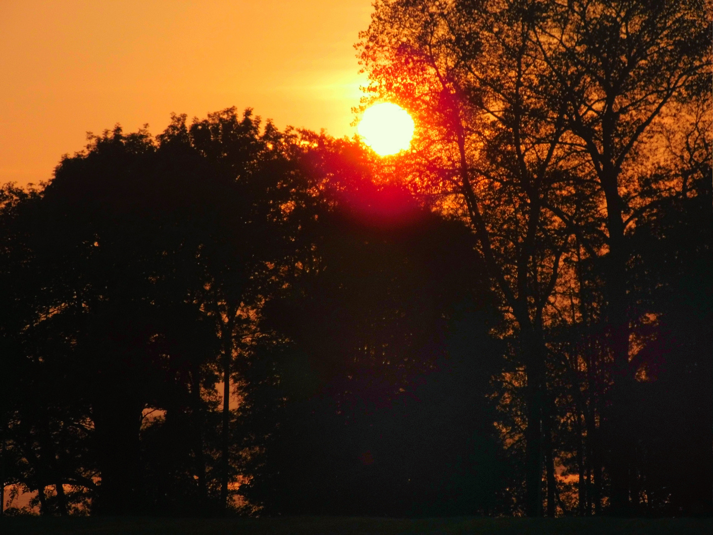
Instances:
[[[194,459],[184,464],[188,479],[181,483],[177,474],[178,481],[153,491],[176,499],[183,488],[188,495],[156,505],[180,510],[196,496],[190,506],[210,510],[206,500],[216,496],[209,474],[221,482],[225,504],[234,477],[229,406],[216,456],[206,444],[215,434],[205,429],[215,401],[203,392],[215,384],[222,353],[230,397],[232,340],[250,320],[236,325],[222,308],[247,310],[264,298],[263,282],[275,278],[268,260],[284,253],[279,243],[289,243],[280,207],[297,197],[297,183],[278,141],[269,124],[260,132],[250,111],[242,118],[232,108],[216,113],[194,121],[190,132],[179,116],[156,140],[119,127],[91,138],[38,194],[6,188],[8,238],[22,233],[8,245],[19,258],[6,257],[6,276],[21,275],[26,285],[6,300],[26,304],[14,311],[22,312],[14,323],[4,322],[4,341],[19,339],[11,362],[30,394],[9,412],[18,434],[11,452],[29,463],[24,482],[39,489],[43,512],[51,509],[42,489],[54,485],[61,502],[62,484],[92,491],[92,510],[103,514],[150,509],[146,492],[156,481],[145,480],[140,461],[145,409],[165,413],[153,436],[194,437],[185,452]],[[234,327],[226,331],[226,323]],[[53,431],[57,424],[73,429]],[[61,444],[70,437],[80,444]],[[63,473],[53,466],[59,447],[79,457]],[[220,468],[210,467],[215,457]]]

